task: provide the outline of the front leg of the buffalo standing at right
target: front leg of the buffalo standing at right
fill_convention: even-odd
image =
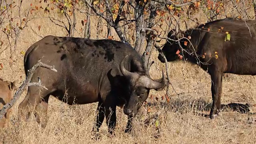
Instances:
[[[220,112],[221,94],[222,94],[222,72],[214,72],[211,74],[212,80],[212,108],[210,111],[210,119],[214,119]]]

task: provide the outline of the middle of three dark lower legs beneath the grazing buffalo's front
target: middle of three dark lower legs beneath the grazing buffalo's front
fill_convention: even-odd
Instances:
[[[106,123],[108,125],[108,132],[113,134],[116,127],[116,106],[105,107]]]

